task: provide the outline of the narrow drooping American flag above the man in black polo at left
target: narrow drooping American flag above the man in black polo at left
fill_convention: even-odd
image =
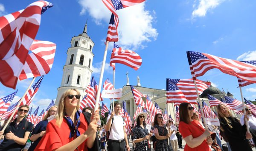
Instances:
[[[41,81],[43,80],[44,76],[41,76],[41,78],[32,86],[32,88],[29,89],[29,91],[26,93],[24,99],[22,100],[20,105],[28,105],[32,102],[33,98],[35,97],[35,94],[38,92],[38,89],[41,85]]]

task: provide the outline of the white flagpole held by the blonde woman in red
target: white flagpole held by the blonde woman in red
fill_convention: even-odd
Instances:
[[[102,78],[103,78],[103,74],[104,74],[104,70],[105,70],[107,53],[108,53],[108,41],[106,42],[105,52],[104,52],[103,61],[102,61],[102,70],[101,70],[100,78],[99,78],[99,88],[98,88],[98,92],[97,92],[94,112],[99,108],[100,91],[101,91],[101,87],[102,87]]]

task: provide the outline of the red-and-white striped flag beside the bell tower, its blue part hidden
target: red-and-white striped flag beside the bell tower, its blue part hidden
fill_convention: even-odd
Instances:
[[[30,50],[32,53],[26,58],[23,70],[20,73],[19,79],[43,76],[52,68],[56,44],[53,42],[34,40]]]

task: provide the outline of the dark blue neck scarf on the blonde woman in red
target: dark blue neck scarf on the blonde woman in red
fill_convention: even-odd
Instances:
[[[67,124],[70,128],[70,138],[74,137],[75,133],[76,133],[76,137],[79,137],[80,136],[80,132],[78,130],[78,127],[80,125],[80,113],[79,113],[79,111],[78,110],[76,111],[76,126],[74,125],[71,118],[67,116],[66,112],[64,113],[64,115],[65,115],[64,118],[67,120]]]

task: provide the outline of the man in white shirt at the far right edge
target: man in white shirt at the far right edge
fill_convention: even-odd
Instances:
[[[248,123],[249,123],[249,129],[250,133],[253,135],[253,142],[256,144],[256,118],[253,117],[252,111],[249,107],[245,108],[245,114],[249,118]],[[244,115],[241,117],[241,125],[244,125]]]

